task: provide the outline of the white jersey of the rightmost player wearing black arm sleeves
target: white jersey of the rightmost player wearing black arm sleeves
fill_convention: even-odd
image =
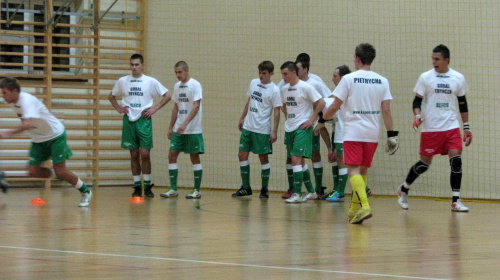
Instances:
[[[447,73],[438,73],[434,69],[422,73],[413,89],[415,93],[425,97],[422,132],[447,131],[460,127],[457,96],[464,96],[468,90],[464,76],[451,68]]]

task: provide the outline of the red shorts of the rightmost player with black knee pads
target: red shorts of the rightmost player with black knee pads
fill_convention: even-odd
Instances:
[[[420,154],[431,157],[433,155],[446,155],[448,150],[462,150],[462,137],[460,129],[447,131],[422,132],[420,136]]]

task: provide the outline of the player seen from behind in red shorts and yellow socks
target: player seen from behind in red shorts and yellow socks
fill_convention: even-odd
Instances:
[[[344,161],[353,189],[349,222],[362,223],[372,217],[366,195],[368,168],[377,149],[380,120],[383,117],[387,129],[387,151],[397,150],[397,131],[393,131],[391,114],[391,92],[386,78],[370,70],[375,59],[375,48],[360,44],[355,50],[355,72],[345,75],[335,88],[335,101],[324,114],[331,118],[344,106]],[[382,116],[381,116],[382,115]]]

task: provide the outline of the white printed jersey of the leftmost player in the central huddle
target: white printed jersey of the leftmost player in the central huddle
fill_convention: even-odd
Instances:
[[[262,84],[260,79],[250,82],[247,95],[250,97],[243,128],[262,134],[271,134],[273,109],[281,107],[280,90],[275,83]]]

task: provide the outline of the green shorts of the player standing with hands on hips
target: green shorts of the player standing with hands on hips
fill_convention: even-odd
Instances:
[[[139,118],[135,122],[123,116],[122,148],[137,150],[139,148],[153,148],[153,120],[151,118]]]

